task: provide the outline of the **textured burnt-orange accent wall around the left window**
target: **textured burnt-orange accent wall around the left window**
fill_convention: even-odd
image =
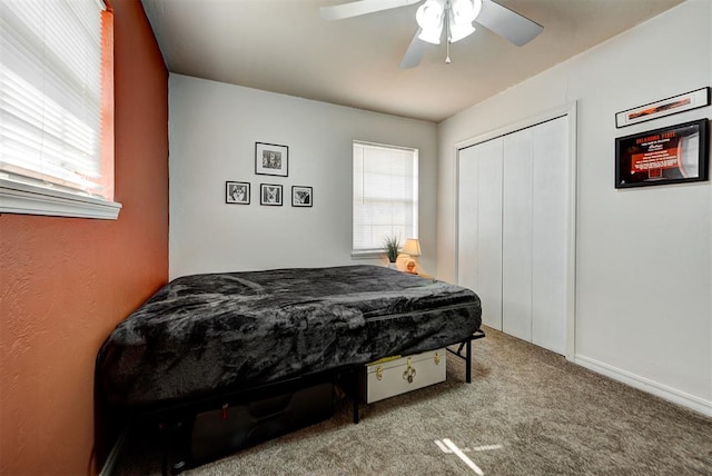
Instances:
[[[93,472],[93,364],[168,279],[168,72],[113,0],[116,221],[0,216],[0,474]]]

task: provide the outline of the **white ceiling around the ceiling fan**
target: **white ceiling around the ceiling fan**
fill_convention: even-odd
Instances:
[[[544,26],[524,47],[478,27],[398,65],[418,4],[326,21],[348,0],[142,0],[168,70],[439,122],[683,0],[496,0]],[[632,59],[634,61],[634,59]],[[615,73],[612,71],[611,73]]]

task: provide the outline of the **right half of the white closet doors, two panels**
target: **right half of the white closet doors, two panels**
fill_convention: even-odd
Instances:
[[[566,350],[565,117],[504,138],[503,330]]]

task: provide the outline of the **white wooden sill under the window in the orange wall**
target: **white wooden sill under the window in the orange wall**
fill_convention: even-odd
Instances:
[[[0,214],[116,220],[121,204],[0,179]]]

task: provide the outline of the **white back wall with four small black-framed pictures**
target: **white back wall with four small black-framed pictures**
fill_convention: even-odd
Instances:
[[[419,262],[435,272],[436,125],[181,75],[169,122],[171,279],[380,264],[350,257],[354,139],[419,149]],[[255,142],[288,146],[289,176],[255,175]],[[250,182],[250,205],[226,205],[226,180]],[[260,184],[284,185],[284,206],[260,206]],[[293,185],[314,187],[312,208],[291,207]]]

